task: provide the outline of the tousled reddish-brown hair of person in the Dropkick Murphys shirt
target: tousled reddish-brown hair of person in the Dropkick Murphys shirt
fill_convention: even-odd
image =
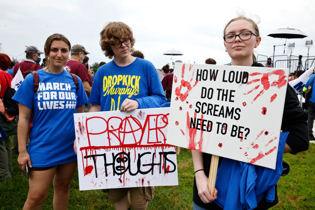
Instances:
[[[123,22],[108,22],[100,32],[100,47],[104,51],[106,57],[112,59],[114,52],[111,49],[111,44],[120,42],[123,36],[131,39],[131,50],[134,51],[135,38],[132,35],[132,30]]]

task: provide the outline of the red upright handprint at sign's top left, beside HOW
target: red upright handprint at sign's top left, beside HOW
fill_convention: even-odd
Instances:
[[[189,72],[192,69],[192,65],[189,66]],[[187,73],[187,72],[186,72]],[[190,81],[188,82],[188,80],[184,80],[184,75],[185,75],[185,64],[183,64],[182,68],[181,68],[181,81],[180,81],[180,86],[175,88],[175,95],[177,95],[179,97],[179,99],[181,101],[186,100],[186,98],[188,97],[189,92],[192,90],[193,87],[195,87],[197,85],[197,83],[199,82],[199,80],[197,80],[195,82],[195,84],[192,86],[190,82],[192,82],[193,77],[195,74],[195,69],[192,71],[192,77],[190,78]],[[177,77],[174,76],[174,82],[177,83]],[[181,89],[182,87],[186,87],[187,90],[184,94],[181,93]]]

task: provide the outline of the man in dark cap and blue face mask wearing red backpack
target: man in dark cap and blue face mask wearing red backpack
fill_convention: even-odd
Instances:
[[[15,64],[12,77],[16,75],[19,68],[23,74],[23,72],[30,70],[34,63],[37,64],[34,68],[34,71],[42,68],[42,66],[39,65],[41,60],[40,55],[44,54],[42,51],[40,51],[35,46],[28,46],[24,52],[26,53],[26,59],[23,62]]]

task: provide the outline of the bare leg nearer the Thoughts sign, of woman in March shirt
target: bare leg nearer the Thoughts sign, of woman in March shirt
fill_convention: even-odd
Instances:
[[[77,161],[57,166],[54,176],[54,209],[67,209],[69,201],[69,186],[77,169]]]

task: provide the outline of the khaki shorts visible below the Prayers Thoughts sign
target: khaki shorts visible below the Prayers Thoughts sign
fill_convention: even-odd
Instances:
[[[146,209],[148,201],[154,197],[154,187],[129,187],[107,189],[108,201],[116,203],[130,191],[130,200],[133,209]]]

